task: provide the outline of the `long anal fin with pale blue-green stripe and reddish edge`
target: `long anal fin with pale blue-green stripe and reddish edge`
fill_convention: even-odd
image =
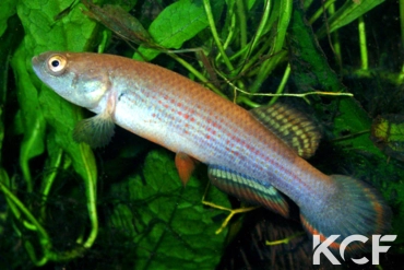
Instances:
[[[282,195],[271,185],[239,174],[231,169],[210,165],[209,177],[213,185],[241,200],[264,206],[287,218],[289,208]]]

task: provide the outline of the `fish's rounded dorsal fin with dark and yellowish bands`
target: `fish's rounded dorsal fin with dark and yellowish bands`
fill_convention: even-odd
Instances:
[[[278,103],[254,108],[250,113],[299,156],[309,159],[314,154],[321,134],[318,127],[301,113]]]

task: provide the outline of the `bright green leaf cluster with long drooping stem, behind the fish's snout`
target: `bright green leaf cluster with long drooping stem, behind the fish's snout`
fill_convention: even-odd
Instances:
[[[25,122],[24,141],[21,156],[22,169],[29,176],[28,161],[45,150],[45,128],[50,125],[50,132],[55,132],[56,142],[72,159],[74,169],[83,177],[85,183],[86,202],[91,221],[91,231],[86,239],[80,243],[90,248],[95,242],[98,224],[96,212],[96,163],[92,150],[83,144],[72,141],[71,132],[74,121],[81,118],[80,110],[52,91],[45,87],[32,70],[32,57],[47,50],[76,50],[83,51],[92,43],[96,24],[81,12],[81,7],[73,10],[60,20],[55,17],[71,5],[71,0],[62,1],[19,1],[17,15],[25,30],[25,37],[13,58],[13,69],[17,78],[17,93],[21,118]],[[49,145],[49,144],[48,144]],[[28,190],[33,184],[28,181]],[[39,235],[39,237],[41,237]],[[39,239],[40,244],[49,239]],[[27,246],[33,246],[29,242]],[[47,260],[63,260],[67,256],[72,258],[82,250],[72,250],[70,254],[58,254],[43,246],[45,257],[34,263],[43,265]],[[70,257],[69,257],[70,256]]]

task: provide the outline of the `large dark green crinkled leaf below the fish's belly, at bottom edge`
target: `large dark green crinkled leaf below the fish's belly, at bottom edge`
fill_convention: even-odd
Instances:
[[[173,154],[164,150],[148,153],[143,174],[112,185],[117,199],[108,223],[127,236],[122,246],[132,242],[135,269],[215,268],[226,238],[215,230],[225,215],[202,206],[205,185],[192,177],[183,188]],[[215,203],[229,207],[226,195],[210,190]]]

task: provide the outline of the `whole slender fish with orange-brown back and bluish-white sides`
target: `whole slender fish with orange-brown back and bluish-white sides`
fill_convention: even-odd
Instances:
[[[293,108],[246,110],[170,70],[119,56],[48,51],[32,62],[56,93],[96,114],[76,125],[79,142],[104,145],[118,125],[177,153],[185,180],[197,160],[225,192],[284,216],[286,195],[308,233],[321,240],[342,236],[333,248],[353,234],[371,238],[390,228],[391,210],[377,190],[348,176],[328,176],[305,160],[320,136]],[[360,242],[348,246],[360,248]]]

